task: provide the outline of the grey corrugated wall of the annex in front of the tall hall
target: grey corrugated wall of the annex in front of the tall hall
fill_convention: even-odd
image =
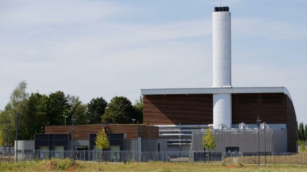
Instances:
[[[211,152],[226,152],[226,147],[239,147],[239,152],[257,152],[257,129],[223,129],[210,131],[216,138],[216,147]],[[267,129],[260,130],[259,133],[259,150],[260,152],[287,152],[287,130]],[[192,152],[199,152],[204,150],[203,137],[206,130],[193,130],[192,131]],[[273,139],[274,134],[274,139]],[[286,137],[285,137],[286,136]],[[266,151],[265,151],[265,138],[266,137]],[[284,139],[285,138],[285,139]],[[274,146],[278,149],[274,149]]]

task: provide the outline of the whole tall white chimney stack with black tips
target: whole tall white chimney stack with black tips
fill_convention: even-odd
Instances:
[[[213,86],[231,87],[231,13],[228,7],[215,7],[213,28]],[[231,128],[231,94],[213,94],[213,129],[225,124]]]

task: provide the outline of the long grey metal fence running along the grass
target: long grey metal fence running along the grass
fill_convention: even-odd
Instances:
[[[260,164],[307,164],[307,153],[260,153]],[[97,162],[198,162],[198,163],[242,163],[257,164],[257,152],[204,153],[190,151],[137,152],[137,151],[24,151],[18,152],[19,161],[33,161],[52,158],[70,158]]]

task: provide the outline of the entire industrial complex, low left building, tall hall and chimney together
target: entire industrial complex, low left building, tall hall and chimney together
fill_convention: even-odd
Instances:
[[[257,152],[257,147],[266,155],[297,152],[296,114],[289,91],[285,87],[233,87],[229,8],[215,7],[212,19],[212,87],[142,89],[142,125],[74,126],[74,132],[72,126],[46,126],[45,134],[36,134],[35,140],[18,141],[18,153],[86,150],[88,158],[96,160],[98,155],[90,153],[96,150],[94,141],[102,128],[108,135],[109,150],[164,152],[163,160],[169,158],[167,151],[189,151],[192,160],[203,155],[202,138],[208,128],[216,138],[212,151],[221,155],[248,154]],[[258,117],[265,122],[260,130]],[[122,160],[121,155],[114,157]]]

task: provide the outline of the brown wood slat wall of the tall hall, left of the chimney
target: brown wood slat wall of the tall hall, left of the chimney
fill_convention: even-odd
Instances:
[[[143,97],[143,123],[212,124],[212,101],[212,94],[146,95]]]

